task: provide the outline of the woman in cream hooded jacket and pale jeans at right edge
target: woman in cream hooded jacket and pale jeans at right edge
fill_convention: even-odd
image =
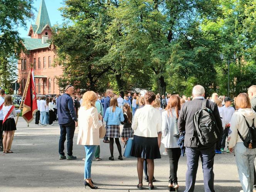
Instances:
[[[241,140],[238,132],[243,139],[246,138],[249,126],[256,125],[256,113],[251,109],[251,103],[246,93],[240,93],[236,98],[236,109],[238,109],[231,118],[229,136],[227,139],[227,145],[229,151],[233,152],[239,174],[239,179],[243,188],[243,192],[253,192],[254,182],[254,158],[256,155],[256,146],[248,148],[244,146],[243,140]]]

